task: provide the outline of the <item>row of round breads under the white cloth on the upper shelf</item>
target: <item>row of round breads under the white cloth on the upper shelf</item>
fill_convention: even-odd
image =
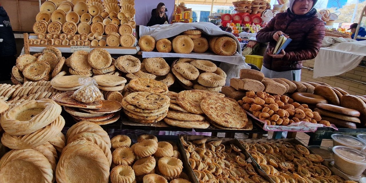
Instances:
[[[175,53],[189,54],[191,52],[204,53],[208,49],[216,55],[232,56],[236,53],[237,44],[231,37],[202,37],[201,30],[187,30],[182,35],[173,38],[164,38],[155,40],[149,35],[142,36],[138,45],[141,51],[151,52],[155,48],[158,52],[169,53],[172,50]]]

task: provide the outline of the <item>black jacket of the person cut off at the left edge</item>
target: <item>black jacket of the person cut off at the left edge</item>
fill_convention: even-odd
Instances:
[[[16,44],[10,19],[6,11],[0,6],[0,56],[16,55]]]

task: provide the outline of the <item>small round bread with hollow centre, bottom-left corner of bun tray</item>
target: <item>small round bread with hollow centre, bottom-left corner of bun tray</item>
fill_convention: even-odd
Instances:
[[[133,182],[135,179],[134,170],[128,165],[118,165],[111,171],[111,183]]]

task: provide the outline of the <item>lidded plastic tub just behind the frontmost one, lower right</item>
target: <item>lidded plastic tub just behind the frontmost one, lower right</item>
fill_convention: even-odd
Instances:
[[[330,137],[333,139],[333,146],[348,146],[357,150],[362,150],[366,146],[366,142],[351,135],[332,134]]]

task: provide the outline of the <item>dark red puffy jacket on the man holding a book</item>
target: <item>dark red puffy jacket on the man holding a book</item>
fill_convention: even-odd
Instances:
[[[277,31],[288,34],[292,39],[285,49],[286,55],[283,59],[273,59],[265,53],[264,67],[277,72],[299,70],[303,60],[314,59],[317,56],[325,36],[325,25],[315,16],[316,12],[313,9],[305,15],[295,15],[287,10],[277,14],[265,28],[258,31],[257,41],[269,42],[266,53],[268,49],[276,46],[273,34]]]

